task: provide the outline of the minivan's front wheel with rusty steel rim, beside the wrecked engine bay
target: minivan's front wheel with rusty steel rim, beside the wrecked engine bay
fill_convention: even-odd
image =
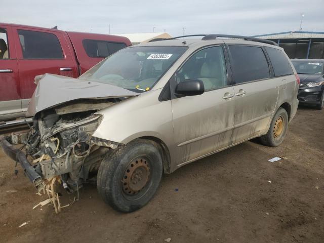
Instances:
[[[136,139],[103,159],[97,176],[98,192],[113,209],[130,213],[154,196],[162,173],[162,157],[156,144]]]

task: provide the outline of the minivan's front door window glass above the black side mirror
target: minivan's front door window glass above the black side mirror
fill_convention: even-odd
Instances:
[[[206,48],[190,57],[176,74],[178,84],[187,79],[200,79],[206,91],[227,86],[223,48]]]

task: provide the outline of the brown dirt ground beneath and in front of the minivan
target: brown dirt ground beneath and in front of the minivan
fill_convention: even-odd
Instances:
[[[46,196],[1,152],[0,242],[324,242],[323,161],[324,110],[300,107],[281,146],[249,141],[165,175],[137,212],[113,211],[86,185],[56,215],[32,210]]]

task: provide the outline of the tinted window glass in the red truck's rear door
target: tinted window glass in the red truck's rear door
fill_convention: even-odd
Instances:
[[[55,34],[18,30],[24,59],[63,59],[63,51]]]

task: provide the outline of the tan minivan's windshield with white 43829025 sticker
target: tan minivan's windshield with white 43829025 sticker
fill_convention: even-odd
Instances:
[[[187,47],[131,47],[120,50],[80,76],[141,93],[150,90]]]

